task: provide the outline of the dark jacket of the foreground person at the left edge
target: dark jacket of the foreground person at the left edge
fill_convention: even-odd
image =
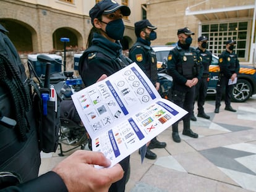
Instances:
[[[17,50],[5,34],[6,32],[7,30],[0,24],[0,53],[7,56],[14,64],[20,79],[24,81],[26,78],[24,66]],[[0,85],[1,115],[15,119],[13,102],[6,89]],[[27,117],[33,117],[32,110],[28,112]],[[6,187],[4,183],[1,183],[4,177],[0,177],[0,191],[67,191],[61,177],[54,172],[48,172],[37,178],[41,159],[36,125],[33,119],[27,120],[29,131],[26,133],[27,140],[25,141],[20,140],[15,128],[0,124],[0,175],[1,172],[12,172],[20,177],[20,182],[22,182],[17,186]]]

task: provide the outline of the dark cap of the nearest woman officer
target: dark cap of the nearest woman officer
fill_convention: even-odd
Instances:
[[[89,12],[89,15],[91,17],[91,22],[93,23],[93,20],[95,18],[100,17],[100,15],[103,14],[111,14],[115,12],[117,9],[120,9],[122,12],[122,15],[129,16],[130,15],[130,8],[124,5],[119,5],[114,0],[102,0],[95,4],[94,7]]]

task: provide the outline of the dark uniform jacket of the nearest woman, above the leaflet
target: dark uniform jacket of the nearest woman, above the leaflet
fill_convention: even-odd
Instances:
[[[101,75],[112,75],[130,64],[122,55],[122,46],[112,43],[98,33],[93,34],[92,46],[88,48],[79,61],[79,73],[85,86],[96,83]]]

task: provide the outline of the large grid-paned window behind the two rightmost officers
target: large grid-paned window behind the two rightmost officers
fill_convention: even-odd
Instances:
[[[208,36],[208,50],[218,56],[226,49],[227,40],[235,40],[234,51],[239,58],[247,59],[249,50],[249,22],[213,23],[202,25],[202,35]]]

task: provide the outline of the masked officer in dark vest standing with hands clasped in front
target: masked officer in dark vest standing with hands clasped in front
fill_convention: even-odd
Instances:
[[[173,102],[189,112],[182,118],[182,134],[198,138],[197,133],[190,129],[190,117],[193,113],[195,85],[202,77],[203,67],[198,52],[194,48],[190,48],[191,35],[194,34],[187,27],[177,30],[179,41],[177,46],[169,52],[167,72],[173,77],[173,87],[171,88]],[[181,142],[178,123],[173,124],[173,140],[177,143]]]

